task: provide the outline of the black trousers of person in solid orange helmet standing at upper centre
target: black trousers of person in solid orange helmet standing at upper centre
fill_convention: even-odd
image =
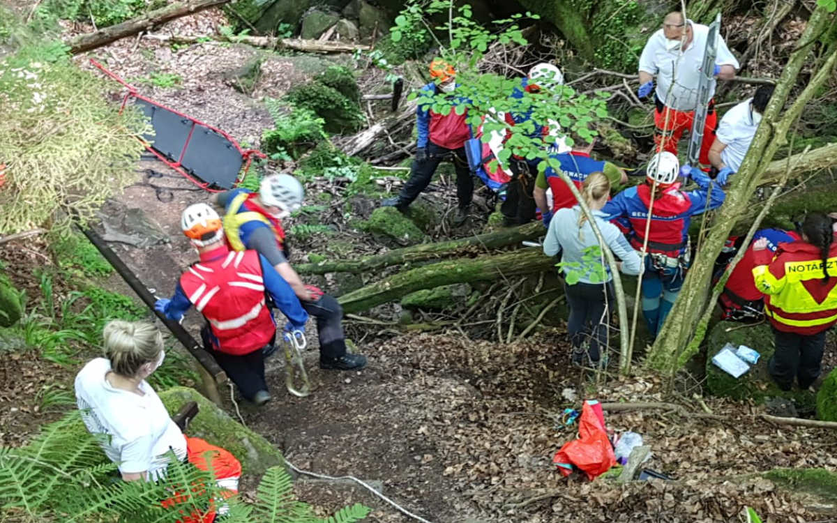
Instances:
[[[465,147],[448,149],[429,141],[427,155],[426,160],[413,160],[410,177],[398,195],[404,206],[413,203],[413,200],[419,197],[419,194],[430,185],[430,180],[436,172],[436,167],[439,167],[439,163],[448,160],[454,162],[456,170],[456,197],[459,199],[459,206],[467,208],[474,194],[474,178],[471,177],[468,159],[465,157]]]

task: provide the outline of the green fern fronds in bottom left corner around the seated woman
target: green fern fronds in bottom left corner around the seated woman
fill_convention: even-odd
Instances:
[[[115,479],[116,465],[87,432],[80,412],[73,411],[24,447],[0,447],[0,514],[17,521],[174,523],[182,518],[181,510],[203,513],[221,495],[212,473],[183,464],[173,454],[169,459],[166,478],[157,482]],[[172,492],[178,494],[177,505],[164,509],[160,502],[171,499]],[[227,523],[352,523],[369,513],[367,507],[352,505],[327,520],[316,517],[310,505],[295,499],[283,467],[264,473],[254,503],[235,495],[225,504]]]

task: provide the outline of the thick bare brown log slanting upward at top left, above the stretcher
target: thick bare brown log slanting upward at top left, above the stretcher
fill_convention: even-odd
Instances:
[[[187,14],[198,13],[198,11],[214,8],[215,6],[228,2],[229,0],[187,0],[187,2],[172,3],[164,8],[149,11],[141,17],[131,18],[131,20],[126,20],[123,23],[101,28],[95,33],[80,34],[75,38],[71,38],[67,43],[69,45],[69,52],[72,54],[84,53],[85,51],[90,51],[90,49],[96,49],[115,42],[120,38],[131,36],[131,34],[147,31],[151,27],[161,23],[167,23],[169,20],[180,18]]]

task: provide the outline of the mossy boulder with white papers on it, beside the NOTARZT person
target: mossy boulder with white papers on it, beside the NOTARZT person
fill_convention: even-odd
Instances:
[[[727,332],[727,328],[733,331]],[[711,359],[723,346],[731,343],[736,348],[746,345],[761,354],[756,365],[741,377],[734,378],[716,367]],[[768,372],[768,361],[773,356],[773,332],[767,323],[755,326],[743,326],[732,321],[720,321],[712,328],[707,341],[706,386],[716,396],[732,397],[743,400],[752,398],[756,403],[763,403],[768,397],[784,397],[793,400],[802,411],[814,411],[814,395],[794,387],[790,391],[780,389]]]

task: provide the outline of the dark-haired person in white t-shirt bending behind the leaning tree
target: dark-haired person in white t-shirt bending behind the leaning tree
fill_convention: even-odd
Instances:
[[[727,185],[729,176],[741,167],[774,89],[772,84],[760,85],[752,98],[734,106],[721,118],[709,149],[709,161],[718,170],[715,179],[720,185]]]

